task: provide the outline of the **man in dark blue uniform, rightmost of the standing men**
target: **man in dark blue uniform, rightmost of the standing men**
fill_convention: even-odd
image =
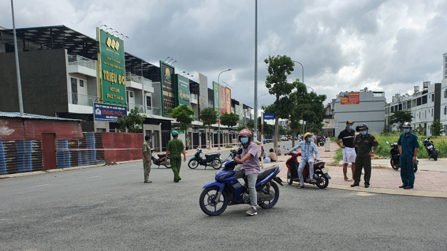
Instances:
[[[412,189],[414,187],[414,162],[416,162],[416,155],[418,155],[418,136],[411,133],[411,124],[409,122],[403,123],[403,134],[400,135],[397,141],[400,153],[400,178],[402,179],[402,186],[399,188]]]

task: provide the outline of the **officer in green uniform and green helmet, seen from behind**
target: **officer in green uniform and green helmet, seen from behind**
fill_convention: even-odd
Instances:
[[[179,182],[180,178],[180,166],[181,166],[181,156],[183,153],[183,161],[186,161],[186,152],[185,146],[183,145],[183,141],[178,139],[178,131],[171,132],[173,139],[169,140],[168,145],[166,146],[166,159],[168,155],[171,154],[171,169],[174,172],[174,182]]]

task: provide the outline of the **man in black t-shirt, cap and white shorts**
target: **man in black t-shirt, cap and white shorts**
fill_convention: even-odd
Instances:
[[[347,166],[351,163],[352,176],[356,170],[356,150],[354,144],[354,136],[356,132],[354,129],[354,122],[352,120],[346,121],[346,129],[340,132],[337,137],[337,145],[343,149],[343,175],[345,181],[353,181],[347,177]],[[340,144],[340,139],[343,145]]]

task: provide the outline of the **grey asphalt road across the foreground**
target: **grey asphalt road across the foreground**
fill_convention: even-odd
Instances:
[[[227,152],[222,153],[225,158]],[[0,180],[1,250],[447,250],[446,199],[284,183],[271,209],[199,207],[216,170],[142,163]]]

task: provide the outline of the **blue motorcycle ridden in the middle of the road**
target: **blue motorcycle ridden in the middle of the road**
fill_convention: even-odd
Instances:
[[[209,216],[219,215],[228,205],[250,204],[246,178],[244,177],[245,184],[241,185],[234,177],[236,165],[234,160],[229,160],[225,168],[216,172],[216,181],[203,187],[205,190],[200,195],[200,208]],[[276,183],[283,186],[281,179],[276,177],[279,171],[279,165],[261,169],[256,181],[256,191],[258,205],[262,208],[271,208],[278,202],[279,188]]]

